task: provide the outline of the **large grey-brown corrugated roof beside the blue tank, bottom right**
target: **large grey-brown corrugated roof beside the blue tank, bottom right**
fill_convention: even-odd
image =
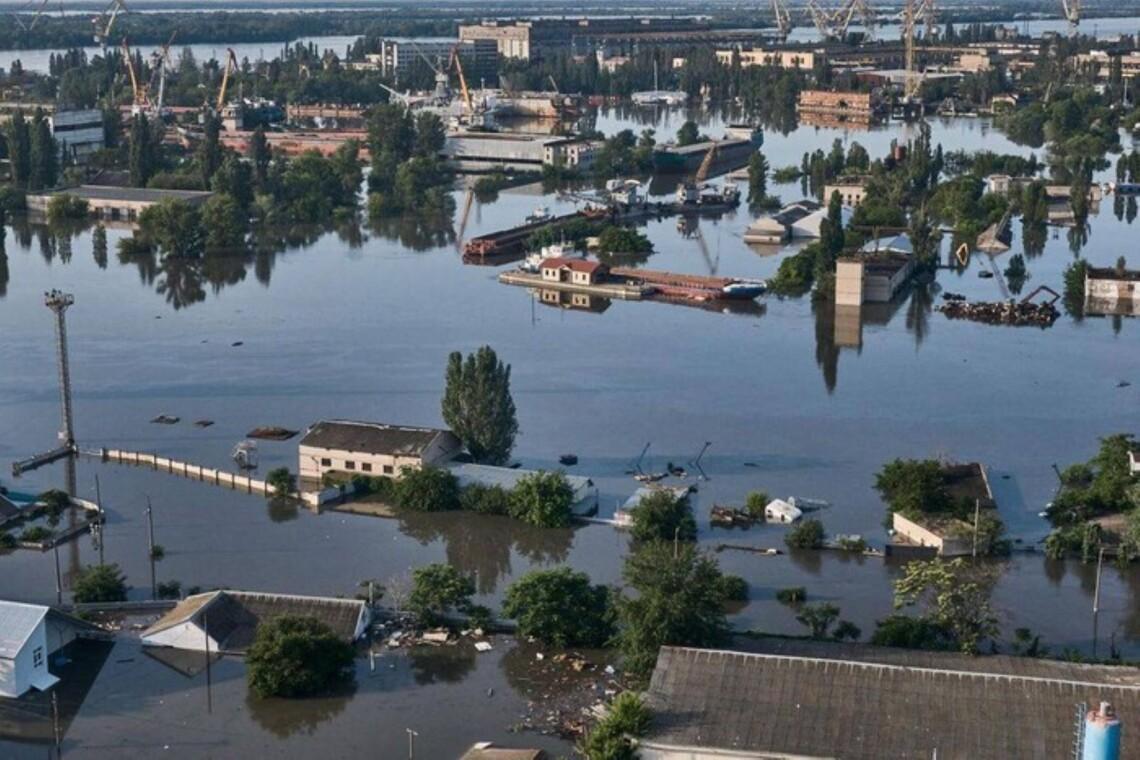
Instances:
[[[1069,757],[1076,711],[1112,702],[1140,755],[1140,670],[1028,657],[762,639],[757,653],[663,647],[651,746],[806,757]]]

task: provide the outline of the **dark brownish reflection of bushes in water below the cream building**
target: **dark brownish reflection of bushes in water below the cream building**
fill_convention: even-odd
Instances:
[[[448,564],[473,575],[479,594],[494,594],[511,575],[511,550],[534,564],[565,562],[573,531],[534,528],[510,517],[463,512],[401,512],[400,532],[422,545],[443,542]]]

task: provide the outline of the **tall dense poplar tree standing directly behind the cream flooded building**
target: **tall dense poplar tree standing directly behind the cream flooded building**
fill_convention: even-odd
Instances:
[[[519,433],[511,398],[511,366],[484,345],[464,359],[456,351],[447,361],[442,399],[446,422],[475,461],[505,464]]]

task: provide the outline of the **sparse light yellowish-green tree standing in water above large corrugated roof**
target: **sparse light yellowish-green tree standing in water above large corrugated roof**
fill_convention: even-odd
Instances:
[[[955,647],[977,654],[999,632],[990,603],[994,571],[964,558],[912,562],[895,581],[895,608],[919,606],[922,616],[945,630]]]

